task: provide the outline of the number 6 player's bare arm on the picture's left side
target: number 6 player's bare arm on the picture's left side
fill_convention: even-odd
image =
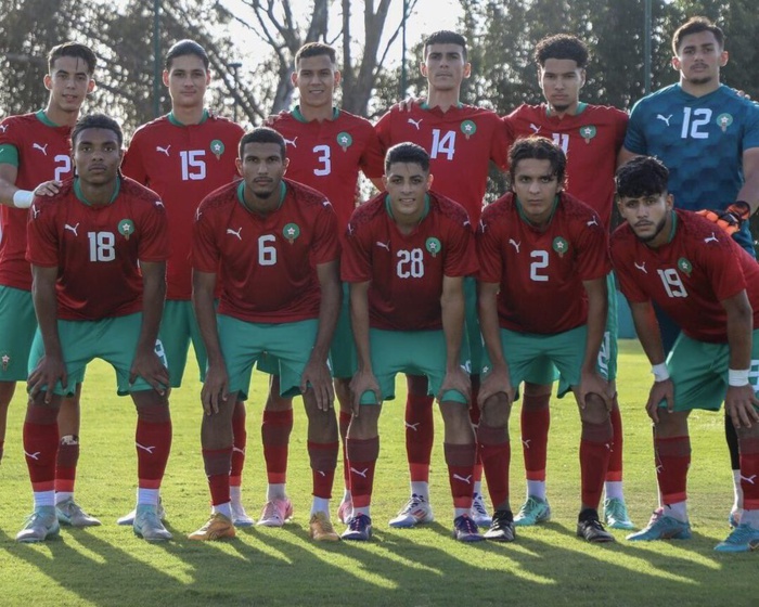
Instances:
[[[206,379],[201,390],[201,402],[206,415],[219,412],[219,404],[227,400],[229,392],[229,376],[227,365],[221,356],[219,331],[216,325],[216,308],[214,306],[214,290],[216,288],[216,273],[192,271],[192,305],[201,331],[203,345],[208,356],[208,369]]]

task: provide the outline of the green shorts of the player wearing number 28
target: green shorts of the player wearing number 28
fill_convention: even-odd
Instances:
[[[426,375],[427,393],[437,396],[446,376],[446,336],[442,331],[369,330],[369,346],[374,376],[380,384],[382,400],[396,398],[396,375]],[[466,404],[466,397],[448,390],[443,401]],[[361,404],[377,404],[373,392],[361,395]]]

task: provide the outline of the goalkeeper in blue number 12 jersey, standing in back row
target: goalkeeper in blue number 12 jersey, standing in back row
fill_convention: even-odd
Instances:
[[[693,17],[672,38],[672,66],[680,81],[639,101],[620,155],[659,158],[671,172],[669,191],[679,208],[719,208],[741,225],[735,240],[754,255],[748,221],[759,205],[759,106],[720,85],[728,63],[722,29]],[[736,221],[737,220],[737,221]],[[678,325],[657,309],[665,352],[672,349]],[[743,495],[737,437],[725,417],[735,502],[731,525],[741,518]]]

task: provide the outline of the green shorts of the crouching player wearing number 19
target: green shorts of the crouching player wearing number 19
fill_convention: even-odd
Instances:
[[[748,380],[759,391],[759,331],[754,331],[751,370]],[[728,344],[697,341],[681,333],[667,357],[667,369],[674,384],[674,411],[706,409],[719,411],[728,393]],[[660,406],[666,406],[661,402]]]

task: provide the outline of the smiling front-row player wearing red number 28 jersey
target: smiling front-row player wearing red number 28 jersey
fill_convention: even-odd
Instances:
[[[386,193],[358,208],[348,224],[342,273],[350,283],[359,364],[347,439],[353,509],[346,540],[369,540],[372,533],[377,422],[382,402],[395,398],[398,372],[427,377],[440,402],[453,537],[483,539],[469,517],[476,445],[467,408],[469,378],[459,360],[464,276],[477,271],[474,236],[466,211],[429,192],[432,182],[424,148],[413,143],[390,147]]]

